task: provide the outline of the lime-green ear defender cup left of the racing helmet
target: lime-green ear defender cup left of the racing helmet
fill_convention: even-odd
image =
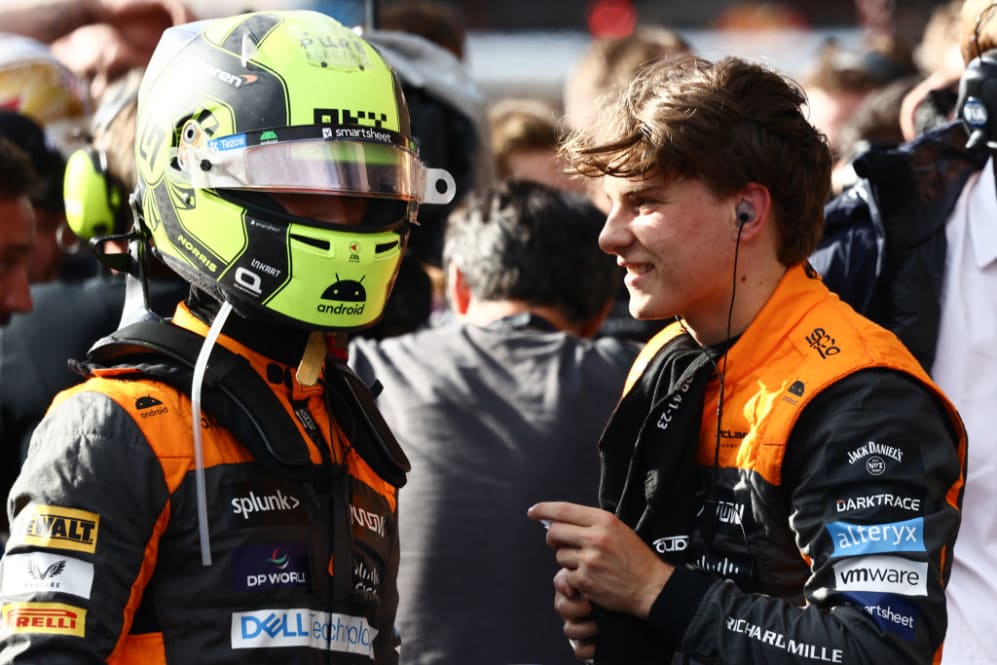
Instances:
[[[88,241],[121,232],[119,219],[128,209],[107,173],[107,159],[101,151],[86,147],[69,156],[62,192],[66,221],[78,238]]]

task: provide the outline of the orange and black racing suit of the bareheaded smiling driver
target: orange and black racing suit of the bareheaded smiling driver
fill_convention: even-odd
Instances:
[[[720,422],[716,368],[698,394],[673,370],[704,353],[688,337],[674,324],[642,351],[600,444],[603,507],[677,564],[613,648],[640,644],[626,662],[642,664],[672,650],[738,665],[932,662],[965,479],[954,407],[895,336],[802,267],[717,361]],[[693,454],[668,460],[669,445]],[[613,662],[601,648],[596,661]]]

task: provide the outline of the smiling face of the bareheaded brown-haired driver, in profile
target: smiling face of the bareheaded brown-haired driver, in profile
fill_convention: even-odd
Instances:
[[[719,199],[699,180],[606,177],[611,209],[599,236],[626,268],[630,313],[682,316],[693,328],[727,316],[737,238],[734,197]]]

